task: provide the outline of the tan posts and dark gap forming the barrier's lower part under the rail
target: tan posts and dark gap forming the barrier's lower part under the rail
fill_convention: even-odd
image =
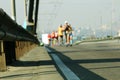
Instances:
[[[29,52],[37,45],[28,41],[4,41],[0,43],[0,71],[6,71],[7,65],[19,60],[24,54]]]

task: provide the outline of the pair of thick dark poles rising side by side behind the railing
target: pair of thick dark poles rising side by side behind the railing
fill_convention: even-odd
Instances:
[[[29,32],[31,32],[33,35],[36,35],[37,20],[38,20],[38,9],[39,9],[39,0],[36,0],[35,8],[34,8],[34,2],[35,2],[35,0],[29,0],[27,30]],[[33,11],[35,11],[35,14],[33,14]],[[34,19],[33,19],[33,17],[34,17]]]

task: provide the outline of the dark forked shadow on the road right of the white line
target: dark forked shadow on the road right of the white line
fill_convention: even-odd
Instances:
[[[106,80],[100,75],[80,66],[80,63],[101,63],[101,62],[120,62],[120,59],[87,59],[87,60],[72,60],[69,57],[63,55],[61,52],[48,47],[53,52],[49,54],[56,54],[65,63],[65,65],[70,68],[81,80]],[[117,66],[119,67],[119,66]],[[58,69],[59,70],[59,69]],[[61,73],[62,74],[62,73]]]

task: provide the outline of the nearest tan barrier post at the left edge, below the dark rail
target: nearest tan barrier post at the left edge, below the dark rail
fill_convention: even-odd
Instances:
[[[6,59],[3,48],[3,41],[0,41],[0,71],[6,71]]]

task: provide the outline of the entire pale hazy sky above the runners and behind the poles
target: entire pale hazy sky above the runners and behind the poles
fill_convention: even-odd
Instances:
[[[11,0],[0,0],[11,15]],[[17,22],[24,23],[24,0],[16,0]],[[56,30],[64,21],[73,27],[120,30],[120,0],[40,0],[37,31]]]

